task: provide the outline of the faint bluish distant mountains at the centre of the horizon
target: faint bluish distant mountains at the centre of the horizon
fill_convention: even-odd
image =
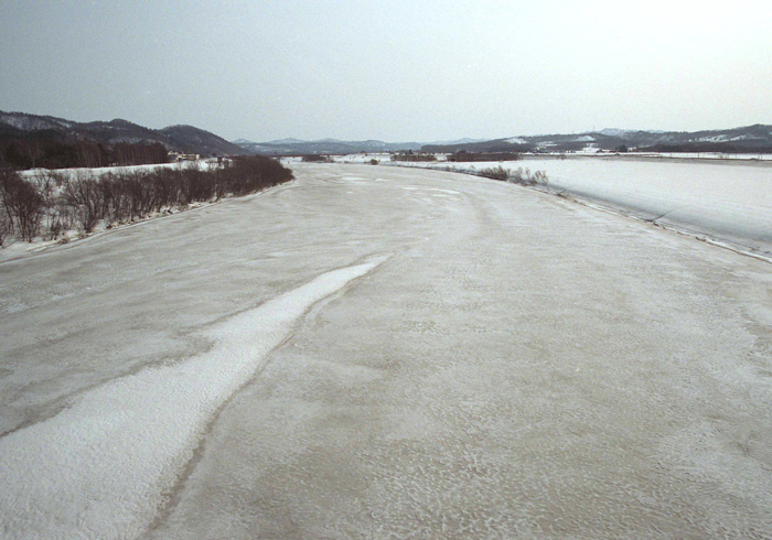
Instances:
[[[396,152],[400,150],[419,150],[420,142],[384,142],[384,141],[339,141],[337,139],[321,139],[319,141],[301,141],[298,139],[281,139],[269,142],[250,142],[244,139],[233,141],[244,150],[262,155],[308,155],[308,154],[353,154],[360,152]]]

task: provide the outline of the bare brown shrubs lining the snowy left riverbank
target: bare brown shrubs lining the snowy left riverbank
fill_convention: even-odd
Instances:
[[[195,202],[243,196],[292,180],[292,171],[259,155],[225,160],[210,170],[197,164],[156,169],[39,171],[22,177],[0,169],[0,246],[15,235],[32,241],[56,239],[132,222]]]

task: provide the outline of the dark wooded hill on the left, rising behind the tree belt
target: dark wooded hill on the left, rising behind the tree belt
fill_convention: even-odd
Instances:
[[[50,116],[0,111],[0,140],[8,139],[92,141],[106,144],[160,142],[169,150],[202,155],[246,153],[242,147],[193,126],[150,129],[121,119],[75,122]]]

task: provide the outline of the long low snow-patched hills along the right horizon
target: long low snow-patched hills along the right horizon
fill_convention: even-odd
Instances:
[[[569,152],[588,145],[601,150],[628,148],[658,152],[772,152],[772,126],[746,126],[742,128],[710,131],[642,131],[604,129],[571,134],[521,136],[493,139],[484,142],[459,144],[425,144],[423,152]]]

